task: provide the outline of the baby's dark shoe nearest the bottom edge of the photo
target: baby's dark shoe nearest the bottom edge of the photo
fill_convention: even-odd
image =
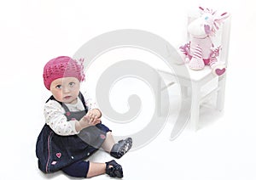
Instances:
[[[115,160],[106,162],[106,173],[110,177],[123,177],[123,169]]]

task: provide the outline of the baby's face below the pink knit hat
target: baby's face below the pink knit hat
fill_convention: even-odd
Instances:
[[[76,77],[62,77],[51,82],[49,90],[57,101],[65,104],[76,104],[80,82]]]

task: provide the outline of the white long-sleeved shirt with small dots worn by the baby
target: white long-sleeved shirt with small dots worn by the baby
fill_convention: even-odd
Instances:
[[[89,94],[84,93],[83,95],[85,105],[88,108],[88,110],[97,109],[96,102],[89,97]],[[70,111],[84,110],[84,105],[79,97],[77,104],[66,105]],[[79,132],[77,132],[75,128],[76,121],[67,121],[65,113],[66,112],[62,108],[61,104],[59,104],[55,100],[49,100],[44,105],[45,122],[56,134],[59,134],[61,136],[78,134]]]

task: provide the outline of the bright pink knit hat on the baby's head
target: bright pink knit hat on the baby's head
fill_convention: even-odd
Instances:
[[[44,65],[44,86],[49,90],[50,83],[61,77],[76,77],[79,82],[84,81],[83,61],[79,59],[78,62],[67,56],[49,60]]]

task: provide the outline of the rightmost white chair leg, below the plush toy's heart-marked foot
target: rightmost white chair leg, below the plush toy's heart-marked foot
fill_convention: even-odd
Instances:
[[[219,111],[224,109],[225,82],[226,82],[225,75],[220,80],[218,80],[219,90],[217,93],[216,109]]]

